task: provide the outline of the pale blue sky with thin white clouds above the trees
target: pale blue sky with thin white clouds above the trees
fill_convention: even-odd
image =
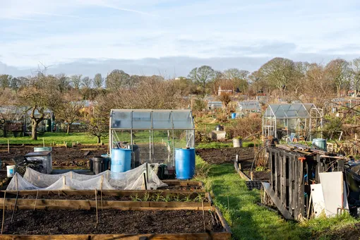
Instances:
[[[359,0],[0,0],[0,74],[187,76],[360,57]]]

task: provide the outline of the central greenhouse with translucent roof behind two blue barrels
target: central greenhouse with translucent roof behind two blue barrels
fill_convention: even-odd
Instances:
[[[143,163],[175,166],[176,148],[195,147],[195,126],[189,109],[112,109],[109,150],[132,150],[131,168]]]

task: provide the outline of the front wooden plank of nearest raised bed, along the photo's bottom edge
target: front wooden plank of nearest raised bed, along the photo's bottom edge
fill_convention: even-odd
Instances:
[[[152,239],[152,240],[227,240],[231,239],[232,234],[229,232],[204,232],[204,233],[189,233],[189,234],[62,234],[62,235],[13,235],[2,234],[1,239],[26,239],[26,240],[64,240],[64,239],[79,239],[79,240],[98,240],[98,239]]]

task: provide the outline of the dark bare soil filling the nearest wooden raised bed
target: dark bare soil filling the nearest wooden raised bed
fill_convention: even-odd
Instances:
[[[195,210],[6,210],[4,234],[167,234],[223,232],[212,215]],[[215,220],[216,222],[216,220]]]

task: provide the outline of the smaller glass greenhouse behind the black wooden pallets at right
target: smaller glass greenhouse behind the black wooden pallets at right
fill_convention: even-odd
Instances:
[[[312,140],[322,138],[323,109],[312,103],[269,104],[263,114],[263,136],[278,139]]]

